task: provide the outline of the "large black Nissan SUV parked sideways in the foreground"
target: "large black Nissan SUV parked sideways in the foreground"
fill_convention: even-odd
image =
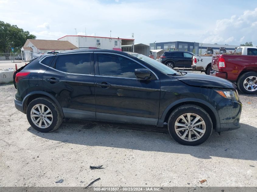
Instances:
[[[14,73],[15,107],[41,132],[65,118],[163,127],[184,145],[240,127],[236,86],[175,71],[147,56],[105,49],[40,56]]]

